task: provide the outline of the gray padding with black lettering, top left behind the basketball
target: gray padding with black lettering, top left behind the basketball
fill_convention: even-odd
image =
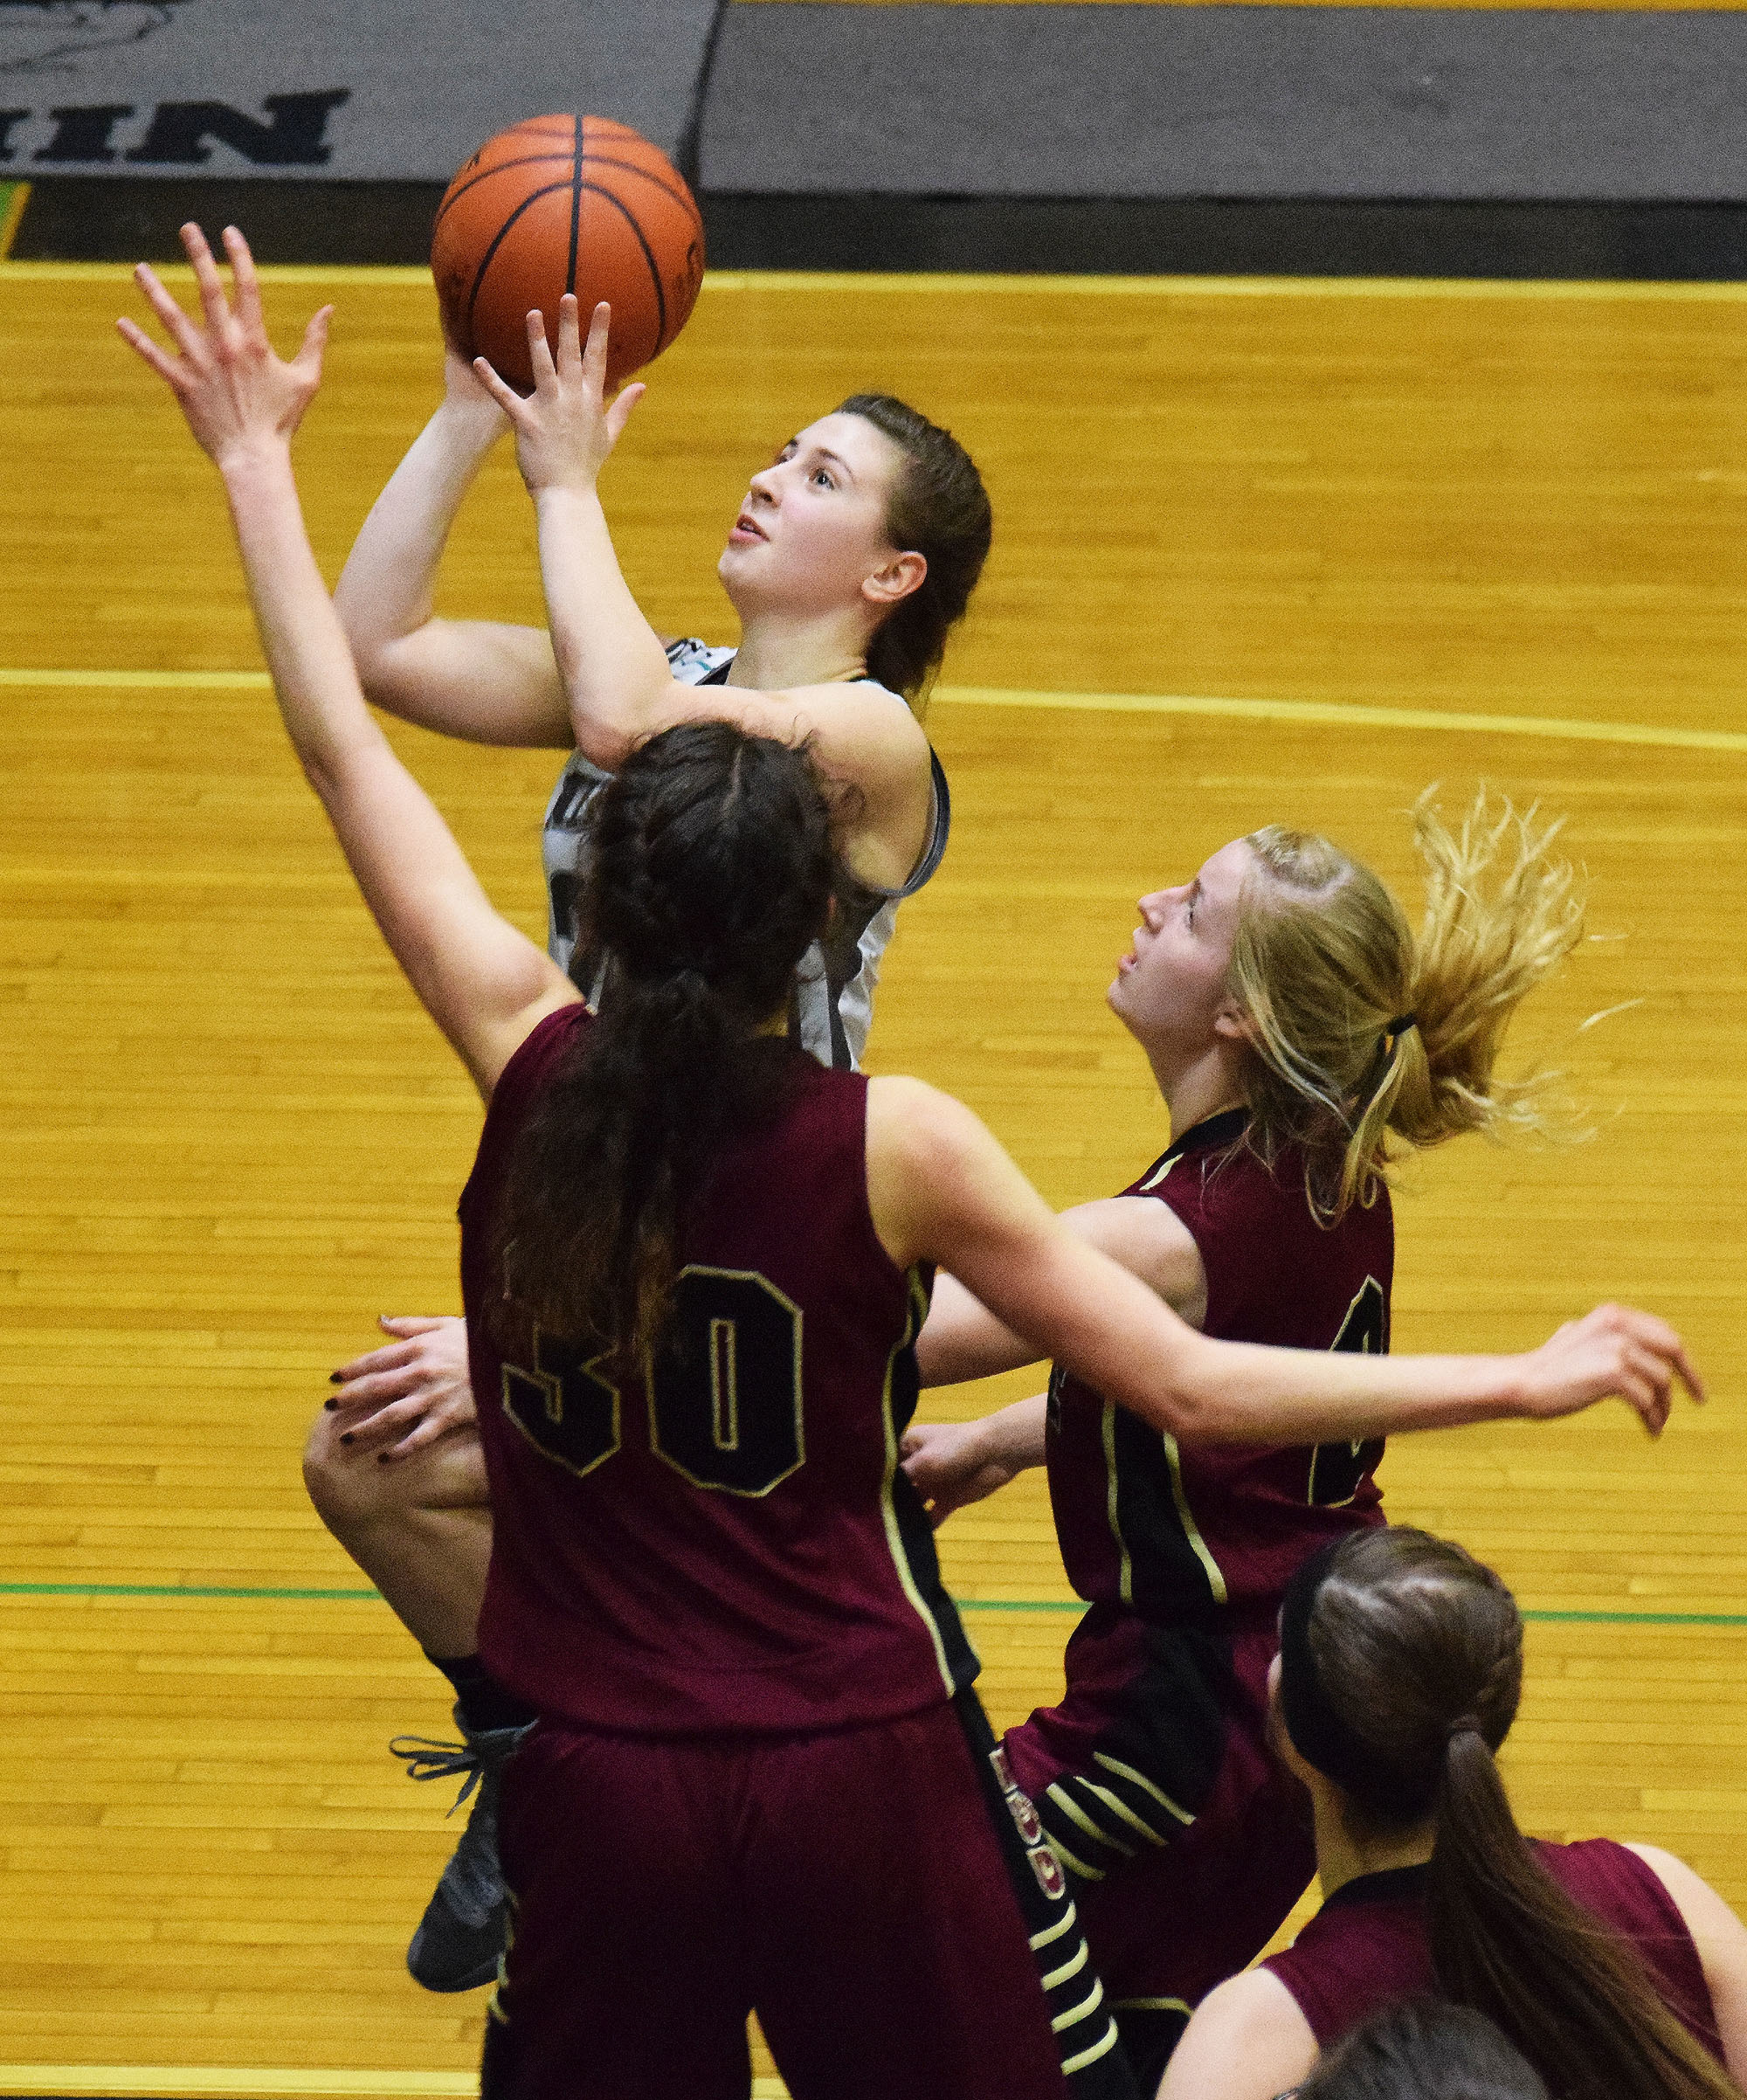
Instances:
[[[716,0],[0,0],[0,174],[447,181],[491,132],[550,109],[619,118],[672,153],[714,13]],[[313,122],[281,116],[281,139],[288,124],[307,136],[290,141],[300,160],[275,162],[267,97],[338,90]],[[197,113],[160,109],[202,103],[252,120],[258,132],[231,126],[252,151],[225,141],[223,120],[202,136]],[[153,158],[130,158],[141,149]]]

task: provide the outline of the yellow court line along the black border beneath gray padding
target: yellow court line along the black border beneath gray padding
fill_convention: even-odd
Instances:
[[[166,284],[191,286],[185,262],[155,262]],[[128,262],[0,262],[6,281],[122,286]],[[262,284],[380,284],[430,290],[430,271],[418,262],[262,262]],[[821,292],[846,298],[863,292],[987,292],[1033,298],[1587,298],[1587,300],[1747,300],[1747,284],[1661,284],[1611,277],[1096,277],[1096,275],[993,275],[976,271],[790,271],[712,269],[703,296],[727,292]]]

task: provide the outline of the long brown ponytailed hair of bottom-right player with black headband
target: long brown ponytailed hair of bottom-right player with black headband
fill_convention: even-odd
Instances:
[[[1392,1525],[1348,1533],[1302,1569],[1283,1630],[1306,1604],[1314,1686],[1293,1693],[1283,1640],[1287,1730],[1321,1768],[1293,1724],[1293,1697],[1310,1690],[1333,1716],[1342,1770],[1329,1777],[1359,1829],[1434,1819],[1426,1913],[1445,1995],[1495,2020],[1562,2100],[1739,2100],[1636,1951],[1516,1827],[1493,1754],[1522,1690],[1522,1615],[1499,1577]]]

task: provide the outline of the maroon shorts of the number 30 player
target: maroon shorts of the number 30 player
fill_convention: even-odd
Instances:
[[[542,1720],[504,1770],[512,1934],[485,2100],[1062,2100],[1037,1966],[949,1705],[829,1735]]]

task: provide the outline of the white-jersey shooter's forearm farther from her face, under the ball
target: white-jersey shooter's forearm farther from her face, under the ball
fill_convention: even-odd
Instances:
[[[504,418],[491,401],[445,401],[414,439],[376,498],[346,556],[334,605],[365,691],[393,708],[378,657],[422,628],[435,607],[437,569],[462,500],[479,477]]]

